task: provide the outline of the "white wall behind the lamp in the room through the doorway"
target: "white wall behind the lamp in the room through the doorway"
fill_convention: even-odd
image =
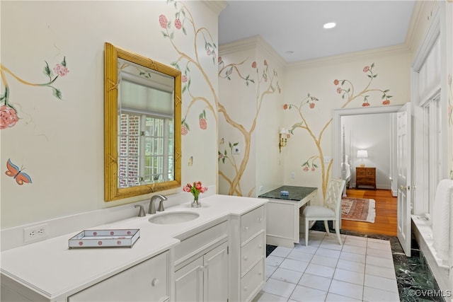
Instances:
[[[341,129],[344,126],[346,134],[346,153],[348,153],[348,150],[350,151],[353,186],[355,186],[355,168],[362,162],[361,158],[357,158],[357,150],[366,149],[368,158],[363,158],[363,163],[365,163],[365,167],[376,168],[377,189],[390,189],[390,117],[391,113],[341,117]]]

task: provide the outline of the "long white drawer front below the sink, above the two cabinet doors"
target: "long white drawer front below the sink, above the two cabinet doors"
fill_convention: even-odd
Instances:
[[[228,238],[228,221],[219,223],[194,236],[185,238],[175,247],[175,267],[178,269],[182,262],[202,253],[210,245]]]

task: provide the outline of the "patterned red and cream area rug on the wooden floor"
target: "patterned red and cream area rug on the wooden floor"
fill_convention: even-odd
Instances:
[[[374,199],[343,197],[341,219],[374,223],[376,217],[374,204]]]

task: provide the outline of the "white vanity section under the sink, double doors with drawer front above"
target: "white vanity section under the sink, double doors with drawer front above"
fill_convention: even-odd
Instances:
[[[175,301],[227,301],[227,239],[228,221],[222,221],[176,245]]]

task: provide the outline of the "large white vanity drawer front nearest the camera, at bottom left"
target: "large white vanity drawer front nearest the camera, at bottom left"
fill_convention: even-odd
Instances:
[[[68,302],[164,301],[170,292],[168,262],[164,252],[69,296]]]

